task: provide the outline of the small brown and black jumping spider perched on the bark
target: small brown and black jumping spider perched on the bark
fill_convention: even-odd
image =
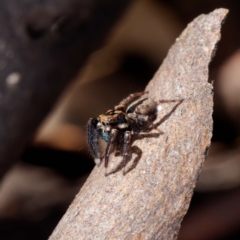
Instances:
[[[146,130],[156,119],[158,103],[175,102],[175,100],[155,102],[151,98],[142,97],[147,93],[130,94],[113,110],[108,110],[97,118],[90,118],[87,124],[88,145],[97,165],[100,165],[102,158],[105,158],[105,168],[107,168],[112,150],[122,148],[125,167],[133,137]],[[107,142],[103,157],[100,156],[99,138]]]

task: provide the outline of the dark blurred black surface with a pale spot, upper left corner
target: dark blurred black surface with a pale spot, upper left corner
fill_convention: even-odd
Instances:
[[[0,1],[0,178],[131,1]]]

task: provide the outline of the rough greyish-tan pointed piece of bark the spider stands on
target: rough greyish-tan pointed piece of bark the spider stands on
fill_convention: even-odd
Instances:
[[[208,65],[227,12],[191,22],[147,86],[155,101],[183,99],[160,105],[156,122],[163,133],[133,143],[125,176],[118,171],[121,157],[110,158],[107,172],[114,174],[95,167],[50,240],[177,238],[210,146]]]

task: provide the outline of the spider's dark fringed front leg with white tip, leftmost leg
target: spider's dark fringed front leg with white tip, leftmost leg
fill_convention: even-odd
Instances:
[[[100,157],[100,148],[99,148],[99,132],[96,128],[97,119],[90,118],[87,123],[87,139],[88,139],[88,146],[90,149],[90,154],[93,156],[96,165],[101,163]]]

